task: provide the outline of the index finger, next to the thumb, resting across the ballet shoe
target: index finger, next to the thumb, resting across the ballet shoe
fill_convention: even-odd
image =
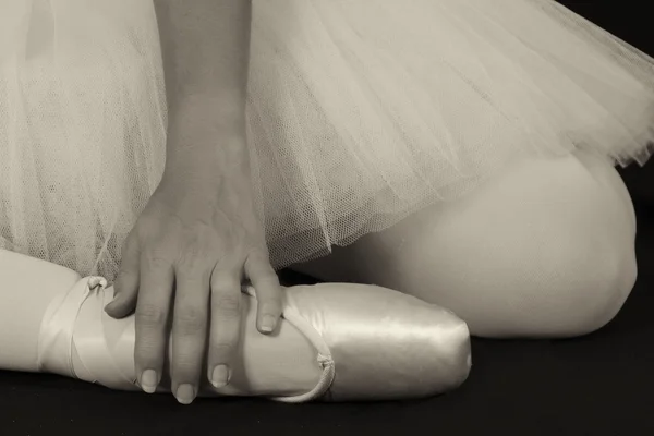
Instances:
[[[174,272],[172,264],[156,252],[141,258],[141,280],[136,303],[136,376],[144,391],[153,393],[161,382],[168,343],[168,314]]]

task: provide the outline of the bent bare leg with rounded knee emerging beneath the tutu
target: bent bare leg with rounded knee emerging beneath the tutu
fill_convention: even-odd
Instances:
[[[520,160],[487,185],[293,269],[440,304],[473,335],[570,337],[608,323],[637,276],[635,216],[608,161]]]

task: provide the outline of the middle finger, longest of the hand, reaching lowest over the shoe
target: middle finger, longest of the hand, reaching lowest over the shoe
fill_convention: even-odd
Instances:
[[[175,271],[170,375],[172,392],[182,404],[190,404],[197,396],[205,355],[210,268],[203,269],[182,264]]]

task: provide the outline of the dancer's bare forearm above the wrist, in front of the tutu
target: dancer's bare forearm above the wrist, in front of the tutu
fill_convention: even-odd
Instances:
[[[155,8],[169,111],[167,161],[202,165],[240,153],[252,0],[155,0]]]

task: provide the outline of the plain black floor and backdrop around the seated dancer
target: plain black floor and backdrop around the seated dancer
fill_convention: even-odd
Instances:
[[[647,2],[560,2],[654,55]],[[639,280],[616,319],[573,340],[474,339],[473,372],[449,395],[302,405],[199,399],[181,407],[172,396],[0,372],[0,435],[654,435],[653,165],[621,171],[639,216]]]

